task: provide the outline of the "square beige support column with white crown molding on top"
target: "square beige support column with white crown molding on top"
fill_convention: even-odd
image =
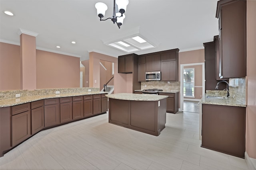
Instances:
[[[20,89],[36,89],[37,33],[20,29]]]

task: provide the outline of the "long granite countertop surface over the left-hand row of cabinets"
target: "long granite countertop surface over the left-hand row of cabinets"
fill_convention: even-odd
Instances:
[[[24,97],[20,97],[20,98],[0,100],[0,107],[15,106],[18,104],[34,102],[34,101],[42,100],[42,99],[62,98],[62,97],[71,97],[71,96],[84,96],[84,95],[91,95],[91,94],[107,94],[107,92],[79,92],[79,93],[40,95],[40,96],[24,96]]]

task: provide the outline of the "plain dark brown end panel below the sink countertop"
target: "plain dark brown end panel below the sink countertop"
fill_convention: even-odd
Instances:
[[[202,147],[244,158],[246,107],[202,104]]]

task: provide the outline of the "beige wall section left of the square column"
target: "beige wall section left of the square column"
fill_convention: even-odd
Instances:
[[[0,90],[20,90],[20,46],[0,43]]]

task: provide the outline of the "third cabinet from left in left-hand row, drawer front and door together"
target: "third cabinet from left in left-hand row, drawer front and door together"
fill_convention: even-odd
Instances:
[[[60,98],[44,99],[44,127],[60,124]]]

